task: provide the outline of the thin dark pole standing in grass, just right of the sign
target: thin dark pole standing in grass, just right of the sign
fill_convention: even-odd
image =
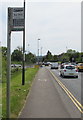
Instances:
[[[24,0],[24,30],[23,30],[23,68],[22,68],[22,85],[25,84],[25,0]]]

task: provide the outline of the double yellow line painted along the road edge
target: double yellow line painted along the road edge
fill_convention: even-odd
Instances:
[[[65,91],[68,97],[72,100],[72,102],[78,108],[78,110],[83,114],[83,106],[81,105],[81,103],[72,95],[72,93],[65,87],[65,85],[63,85],[63,83],[50,70],[49,72],[52,74],[52,76],[60,85],[60,87]]]

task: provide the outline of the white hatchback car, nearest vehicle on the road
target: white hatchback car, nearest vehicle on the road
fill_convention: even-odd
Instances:
[[[60,76],[72,76],[78,78],[78,70],[74,65],[64,65],[60,68]]]

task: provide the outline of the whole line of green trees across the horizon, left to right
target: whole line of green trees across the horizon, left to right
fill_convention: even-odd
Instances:
[[[7,58],[7,48],[2,47],[2,56],[6,60]],[[22,47],[17,47],[11,55],[12,61],[21,62],[23,60],[23,49]],[[82,62],[83,61],[83,52],[78,52],[76,50],[68,49],[66,53],[61,53],[59,55],[52,55],[52,53],[48,50],[45,56],[42,56],[40,61],[44,62]],[[36,63],[37,57],[31,52],[25,54],[25,62],[26,63]]]

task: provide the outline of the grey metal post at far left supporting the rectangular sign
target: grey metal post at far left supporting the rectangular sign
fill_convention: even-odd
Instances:
[[[11,30],[10,9],[8,8],[8,33],[7,33],[7,118],[10,118],[10,80],[11,80]]]

